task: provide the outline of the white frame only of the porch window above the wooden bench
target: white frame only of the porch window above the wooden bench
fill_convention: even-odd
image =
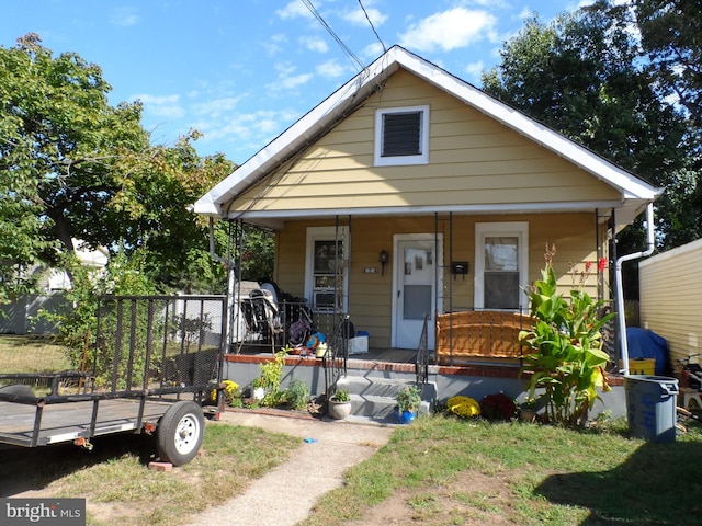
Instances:
[[[475,224],[475,273],[473,305],[476,309],[485,308],[485,238],[489,237],[517,237],[519,253],[519,286],[525,289],[529,286],[529,222],[476,222]],[[522,305],[522,300],[520,300]],[[523,308],[528,308],[526,295],[523,297]],[[512,309],[506,309],[512,310]]]

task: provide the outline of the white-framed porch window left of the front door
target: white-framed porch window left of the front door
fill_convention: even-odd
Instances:
[[[307,272],[305,295],[315,311],[347,309],[347,228],[307,230]]]

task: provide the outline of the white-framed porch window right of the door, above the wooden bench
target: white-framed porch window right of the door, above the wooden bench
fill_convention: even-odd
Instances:
[[[476,224],[475,298],[479,309],[524,307],[528,285],[526,222]]]

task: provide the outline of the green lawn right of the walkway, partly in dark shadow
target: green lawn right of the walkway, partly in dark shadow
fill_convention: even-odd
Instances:
[[[397,494],[398,524],[700,524],[700,426],[672,444],[630,439],[625,427],[419,419],[353,467],[303,524],[376,524],[372,507]]]

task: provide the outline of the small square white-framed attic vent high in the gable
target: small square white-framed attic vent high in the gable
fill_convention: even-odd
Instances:
[[[429,162],[429,106],[375,112],[375,165]]]

